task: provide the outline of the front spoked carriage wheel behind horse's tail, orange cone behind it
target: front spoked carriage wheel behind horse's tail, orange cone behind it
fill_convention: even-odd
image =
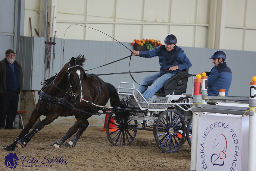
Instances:
[[[121,119],[115,114],[110,114],[106,123],[106,132],[109,142],[114,146],[130,145],[137,133],[134,127],[137,120]]]

